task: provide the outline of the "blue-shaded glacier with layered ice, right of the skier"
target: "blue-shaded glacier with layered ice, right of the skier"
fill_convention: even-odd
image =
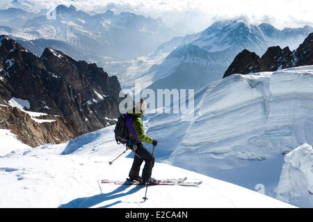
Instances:
[[[284,154],[313,143],[312,86],[312,65],[214,81],[193,115],[147,115],[156,159],[275,196]]]

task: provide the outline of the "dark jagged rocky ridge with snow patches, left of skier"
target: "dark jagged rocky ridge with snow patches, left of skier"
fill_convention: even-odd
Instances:
[[[47,48],[38,58],[6,35],[0,40],[0,104],[26,100],[28,111],[63,118],[72,136],[115,123],[121,100],[117,77],[62,51]]]

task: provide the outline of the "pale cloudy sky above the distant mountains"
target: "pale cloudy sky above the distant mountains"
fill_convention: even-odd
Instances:
[[[12,0],[0,0],[1,8]],[[168,26],[184,32],[202,31],[217,19],[241,18],[253,24],[268,22],[278,29],[313,26],[312,0],[18,0],[31,3],[33,10],[51,8],[63,3],[85,11],[116,13],[129,11],[150,17],[161,17]],[[31,5],[29,4],[29,5]]]

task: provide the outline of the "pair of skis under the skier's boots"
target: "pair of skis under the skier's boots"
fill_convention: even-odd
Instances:
[[[202,184],[202,181],[200,182],[185,182],[185,178],[181,179],[165,179],[165,180],[154,180],[154,182],[150,182],[148,184],[140,184],[138,181],[118,181],[118,180],[102,180],[102,184],[118,184],[118,185],[148,185],[148,186],[155,186],[155,185],[178,185],[178,186],[186,186],[186,187],[197,187],[200,184]]]

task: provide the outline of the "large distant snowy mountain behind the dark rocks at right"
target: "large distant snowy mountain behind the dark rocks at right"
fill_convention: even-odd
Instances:
[[[137,63],[133,63],[134,65],[121,74],[122,88],[134,87],[134,82],[137,82],[142,84],[142,88],[198,90],[210,81],[222,79],[234,57],[243,49],[263,54],[274,42],[278,45],[280,42],[282,45],[292,42],[292,45],[298,46],[307,37],[307,32],[313,31],[310,26],[283,31],[272,26],[280,33],[278,38],[276,35],[270,35],[270,32],[264,29],[265,25],[256,26],[241,20],[227,20],[214,22],[200,33],[172,38],[147,57],[145,64],[153,64],[152,62],[157,60],[155,65],[140,69]],[[136,75],[131,72],[136,72]],[[135,76],[138,79],[135,79]],[[123,79],[128,79],[127,77],[134,80],[124,83]]]

